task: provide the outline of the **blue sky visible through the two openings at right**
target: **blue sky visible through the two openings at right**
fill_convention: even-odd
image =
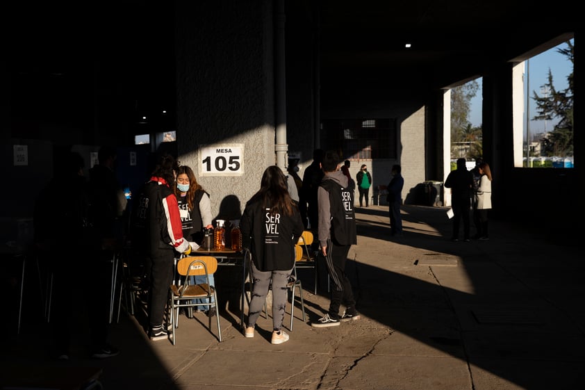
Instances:
[[[575,41],[572,41],[573,44]],[[548,70],[550,68],[552,72],[552,80],[554,88],[557,90],[564,90],[568,87],[567,76],[572,72],[572,63],[563,54],[557,53],[557,48],[565,49],[567,45],[565,43],[559,44],[557,47],[553,47],[538,56],[530,58],[529,65],[529,83],[530,83],[530,95],[532,97],[532,91],[536,91],[538,95],[543,95],[541,92],[541,86],[547,83]],[[479,81],[479,80],[478,80]],[[536,115],[536,104],[534,100],[530,99],[530,111],[529,116],[534,117]],[[479,90],[477,95],[471,100],[469,121],[472,126],[477,127],[481,125],[481,82],[479,83]],[[553,123],[558,122],[547,121],[547,131],[552,130]],[[545,121],[531,121],[530,130],[534,133],[543,133],[545,131]]]

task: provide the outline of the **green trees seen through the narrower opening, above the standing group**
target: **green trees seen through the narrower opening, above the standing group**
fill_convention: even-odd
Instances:
[[[468,120],[470,102],[479,90],[476,80],[451,90],[451,158],[477,159],[483,153],[482,129]]]

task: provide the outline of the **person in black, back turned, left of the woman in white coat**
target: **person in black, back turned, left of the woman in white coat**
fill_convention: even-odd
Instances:
[[[465,159],[457,159],[457,169],[452,170],[445,179],[445,188],[451,188],[453,209],[453,234],[451,241],[459,241],[459,227],[463,220],[463,239],[470,241],[469,209],[471,207],[471,189],[473,175],[465,167]]]

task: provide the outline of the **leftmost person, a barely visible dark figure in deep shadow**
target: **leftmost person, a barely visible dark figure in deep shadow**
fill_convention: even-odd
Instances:
[[[41,191],[34,211],[35,246],[49,259],[51,354],[60,360],[76,352],[73,335],[85,318],[90,356],[104,359],[119,353],[107,341],[111,266],[99,256],[103,241],[91,219],[84,166],[79,153],[56,155],[56,173]]]

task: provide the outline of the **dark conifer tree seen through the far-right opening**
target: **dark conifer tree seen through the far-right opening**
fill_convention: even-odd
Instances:
[[[566,42],[567,47],[557,49],[560,54],[565,55],[575,65],[575,50],[570,41]],[[547,90],[547,94],[539,96],[532,91],[532,99],[536,102],[538,115],[533,120],[559,119],[554,129],[541,140],[542,156],[572,156],[573,155],[573,72],[567,76],[568,88],[557,90],[554,88],[552,72],[548,70],[547,83],[541,88]]]

